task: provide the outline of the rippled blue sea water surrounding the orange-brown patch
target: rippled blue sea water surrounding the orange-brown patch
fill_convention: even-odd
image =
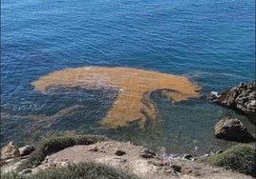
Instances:
[[[113,105],[115,91],[45,95],[31,83],[54,70],[131,67],[187,76],[203,87],[205,96],[254,79],[254,40],[254,0],[2,0],[1,145],[75,130],[176,153],[230,146],[214,138],[218,120],[237,116],[249,130],[253,126],[205,97],[174,105],[155,94],[158,124],[102,129],[98,122]],[[50,116],[75,105],[80,109],[49,128],[26,117]]]

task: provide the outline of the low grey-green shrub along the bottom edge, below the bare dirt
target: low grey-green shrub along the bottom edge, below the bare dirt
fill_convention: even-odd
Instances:
[[[1,179],[136,179],[135,175],[103,165],[82,163],[62,169],[46,169],[31,175],[8,173]]]

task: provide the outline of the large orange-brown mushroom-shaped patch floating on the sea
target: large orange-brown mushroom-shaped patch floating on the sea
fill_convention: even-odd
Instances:
[[[175,102],[199,97],[200,87],[184,76],[152,70],[130,68],[83,67],[57,70],[32,82],[35,89],[46,92],[51,87],[81,87],[87,89],[119,89],[117,101],[102,124],[109,128],[127,126],[139,120],[156,119],[157,105],[150,99],[152,91],[164,89]]]

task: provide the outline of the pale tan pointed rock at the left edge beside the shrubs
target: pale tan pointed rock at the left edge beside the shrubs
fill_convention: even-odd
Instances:
[[[1,150],[1,159],[10,159],[20,156],[19,149],[10,142],[5,148]]]

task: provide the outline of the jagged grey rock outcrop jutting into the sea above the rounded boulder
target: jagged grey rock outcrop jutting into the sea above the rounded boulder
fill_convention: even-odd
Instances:
[[[210,100],[224,107],[243,111],[256,124],[256,82],[248,85],[241,83],[218,95],[210,96]]]

